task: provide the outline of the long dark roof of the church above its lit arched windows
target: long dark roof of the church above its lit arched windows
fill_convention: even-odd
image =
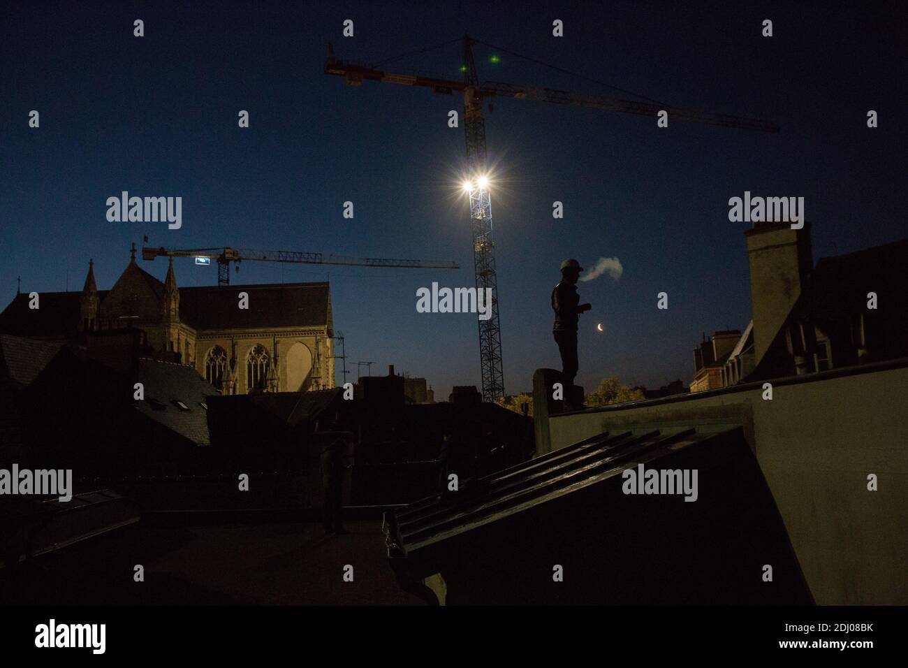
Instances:
[[[249,309],[238,308],[241,292],[249,294]],[[198,331],[324,326],[329,318],[329,300],[327,283],[182,287],[180,319]]]

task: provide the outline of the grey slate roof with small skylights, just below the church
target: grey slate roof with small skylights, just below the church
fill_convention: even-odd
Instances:
[[[208,411],[202,404],[218,391],[192,366],[143,358],[136,378],[143,384],[145,401],[135,402],[135,410],[194,444],[211,444]],[[183,402],[186,409],[174,401]]]

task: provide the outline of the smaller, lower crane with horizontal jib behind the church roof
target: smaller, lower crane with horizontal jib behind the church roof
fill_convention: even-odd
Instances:
[[[218,285],[230,284],[232,262],[279,262],[291,264],[340,264],[342,266],[393,267],[398,269],[459,269],[460,265],[448,261],[394,260],[383,257],[352,257],[350,255],[307,253],[304,251],[262,251],[257,248],[189,248],[176,249],[160,246],[143,246],[142,259],[155,257],[202,257],[218,263]],[[237,267],[239,270],[239,266]]]

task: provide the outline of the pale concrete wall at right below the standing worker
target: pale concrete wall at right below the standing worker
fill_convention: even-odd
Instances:
[[[908,604],[908,364],[548,416],[552,449],[603,431],[744,426],[816,603]],[[879,489],[867,490],[868,474]]]

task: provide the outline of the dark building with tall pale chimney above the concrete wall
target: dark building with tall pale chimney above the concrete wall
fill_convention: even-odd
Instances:
[[[745,233],[754,319],[704,337],[691,392],[908,357],[908,240],[813,266],[809,229]]]

